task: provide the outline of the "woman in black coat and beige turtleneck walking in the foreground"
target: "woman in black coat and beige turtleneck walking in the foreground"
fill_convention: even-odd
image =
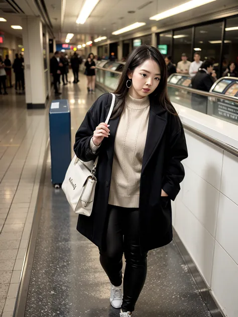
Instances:
[[[146,280],[148,251],[172,240],[171,199],[184,178],[187,147],[156,48],[142,45],[130,54],[114,93],[109,125],[111,95],[103,94],[76,133],[77,157],[99,155],[92,214],[79,216],[77,230],[98,246],[111,305],[129,317]]]

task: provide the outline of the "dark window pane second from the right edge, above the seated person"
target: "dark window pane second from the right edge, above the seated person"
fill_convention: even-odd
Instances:
[[[210,59],[213,68],[219,75],[222,22],[195,27],[193,53],[198,52],[201,61]]]

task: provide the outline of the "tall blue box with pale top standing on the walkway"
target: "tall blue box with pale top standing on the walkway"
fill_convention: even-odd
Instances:
[[[71,120],[68,100],[53,100],[49,111],[51,182],[60,188],[71,162]]]

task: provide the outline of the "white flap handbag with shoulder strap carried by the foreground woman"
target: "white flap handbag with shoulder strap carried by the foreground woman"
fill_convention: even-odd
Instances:
[[[112,93],[111,93],[112,94]],[[115,95],[112,94],[111,106],[106,118],[107,124],[115,104]],[[96,187],[96,167],[98,156],[94,161],[83,162],[74,155],[62,184],[66,198],[76,214],[90,216],[92,212]]]

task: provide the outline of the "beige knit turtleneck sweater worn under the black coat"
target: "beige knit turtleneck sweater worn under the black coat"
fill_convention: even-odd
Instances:
[[[134,99],[129,94],[114,143],[114,156],[108,204],[138,208],[141,169],[149,122],[150,100]],[[92,151],[98,146],[90,142]]]

